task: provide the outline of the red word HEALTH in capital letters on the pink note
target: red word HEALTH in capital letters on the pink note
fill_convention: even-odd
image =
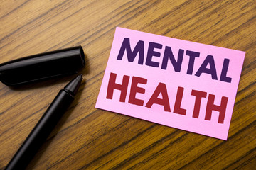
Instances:
[[[128,90],[128,84],[129,84],[129,76],[124,75],[122,79],[122,84],[116,83],[117,74],[110,73],[110,80],[107,86],[107,99],[113,98],[114,90],[121,91],[120,93],[120,102],[125,102],[127,98],[127,90]],[[132,85],[130,89],[129,99],[128,103],[134,104],[137,106],[145,106],[146,108],[151,108],[153,104],[158,104],[161,106],[164,106],[164,111],[171,112],[170,103],[169,103],[169,96],[167,93],[166,84],[159,83],[158,86],[156,86],[156,89],[154,90],[154,93],[151,95],[149,100],[144,104],[144,101],[142,99],[136,98],[136,94],[145,94],[145,89],[142,87],[139,87],[138,84],[147,84],[147,79],[144,79],[142,77],[132,77]],[[181,86],[178,86],[177,94],[176,94],[176,101],[174,104],[174,113],[180,114],[180,115],[186,115],[186,109],[181,108],[181,102],[183,98],[183,91],[184,88]],[[159,98],[159,95],[161,94],[162,98]],[[199,111],[201,107],[201,100],[202,98],[207,97],[207,93],[204,91],[197,91],[192,90],[191,95],[195,96],[194,101],[194,108],[193,108],[193,118],[198,118]],[[220,106],[217,106],[214,104],[215,95],[209,94],[208,95],[208,101],[206,105],[206,115],[205,120],[210,120],[211,115],[213,111],[219,112],[219,118],[218,123],[223,123],[225,118],[225,111],[228,103],[228,97],[223,96],[221,98]]]

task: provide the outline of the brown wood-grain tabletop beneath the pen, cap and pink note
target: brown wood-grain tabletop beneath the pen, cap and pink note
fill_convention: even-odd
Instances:
[[[255,169],[256,3],[246,1],[1,0],[0,63],[82,45],[86,81],[28,169]],[[228,140],[95,108],[115,27],[246,52]],[[4,169],[73,77],[0,84]]]

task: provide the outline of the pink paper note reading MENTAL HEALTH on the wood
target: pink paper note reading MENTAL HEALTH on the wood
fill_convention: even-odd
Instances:
[[[245,52],[116,28],[96,108],[227,140]]]

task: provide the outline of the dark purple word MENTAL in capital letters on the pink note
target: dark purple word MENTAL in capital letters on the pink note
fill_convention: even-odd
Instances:
[[[166,69],[168,61],[171,62],[174,67],[175,72],[181,72],[181,65],[183,62],[184,50],[178,50],[177,60],[171,50],[171,47],[166,46],[164,49],[164,55],[160,52],[155,51],[155,49],[162,49],[163,45],[156,42],[149,42],[149,47],[147,49],[146,61],[144,63],[144,41],[139,40],[134,50],[131,49],[129,38],[124,38],[122,46],[120,47],[119,54],[117,55],[117,60],[122,60],[124,52],[127,52],[127,58],[129,62],[134,62],[135,57],[139,56],[138,64],[146,64],[149,67],[159,67],[159,62],[154,62],[153,57],[162,57],[161,69]],[[138,55],[139,54],[139,55]],[[188,69],[186,74],[193,74],[193,66],[196,57],[200,57],[200,52],[193,52],[186,50],[186,55],[189,57]],[[225,58],[223,60],[223,67],[220,74],[220,81],[225,81],[230,83],[231,78],[227,77],[228,65],[230,60]],[[209,65],[210,68],[207,68]],[[206,59],[201,64],[201,67],[196,71],[195,76],[200,77],[202,73],[210,74],[212,79],[218,80],[217,71],[215,67],[215,61],[213,55],[207,55]]]

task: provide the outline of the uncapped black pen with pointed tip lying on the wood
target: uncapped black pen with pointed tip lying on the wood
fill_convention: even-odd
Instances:
[[[64,89],[60,90],[53,102],[50,104],[46,113],[36,124],[35,128],[28,135],[14,157],[6,166],[6,170],[25,169],[50,132],[53,130],[58,120],[74,100],[75,94],[82,81],[82,74],[70,81]]]

